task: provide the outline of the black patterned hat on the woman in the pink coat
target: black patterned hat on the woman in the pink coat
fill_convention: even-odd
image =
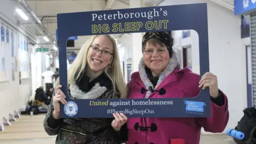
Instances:
[[[142,47],[146,45],[150,38],[156,38],[161,41],[168,49],[170,57],[172,55],[172,45],[173,38],[168,31],[159,31],[159,32],[148,32],[143,36]]]

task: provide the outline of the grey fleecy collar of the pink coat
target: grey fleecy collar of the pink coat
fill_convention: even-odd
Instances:
[[[141,81],[143,82],[143,84],[146,87],[153,87],[153,89],[156,89],[157,86],[163,82],[163,80],[165,79],[165,77],[169,74],[172,73],[172,71],[178,66],[178,58],[177,58],[177,54],[173,51],[172,53],[172,57],[169,61],[169,63],[167,64],[166,68],[162,71],[162,73],[160,74],[156,86],[154,86],[150,79],[148,78],[148,74],[146,73],[146,69],[145,69],[145,62],[143,60],[143,58],[141,58],[140,63],[139,63],[139,75],[141,78]],[[145,97],[148,98],[149,95],[151,94],[151,91],[147,91]]]

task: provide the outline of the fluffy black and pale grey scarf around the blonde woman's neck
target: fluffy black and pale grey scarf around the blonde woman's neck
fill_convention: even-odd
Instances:
[[[106,91],[110,90],[112,82],[109,77],[102,73],[90,82],[90,77],[83,74],[75,84],[69,85],[71,97],[75,99],[97,99]]]

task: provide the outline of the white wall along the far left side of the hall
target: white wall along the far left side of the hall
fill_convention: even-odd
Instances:
[[[31,92],[31,71],[29,68],[30,53],[34,49],[32,45],[28,46],[28,51],[18,47],[18,42],[37,42],[36,35],[31,33],[28,29],[18,25],[15,18],[15,9],[17,6],[11,1],[1,1],[0,4],[0,27],[5,29],[5,42],[0,46],[0,53],[4,51],[6,58],[6,70],[0,70],[0,125],[2,124],[2,117],[9,119],[9,114],[13,114],[14,110],[19,110],[26,106],[27,100],[30,98]],[[10,42],[6,42],[6,29],[9,29]],[[14,39],[11,39],[13,33]],[[20,39],[18,39],[18,36]],[[11,42],[13,42],[14,57],[12,56]],[[26,43],[27,45],[27,43]],[[0,55],[1,60],[3,55]],[[41,62],[37,66],[41,67]],[[2,61],[1,61],[2,62]],[[19,66],[20,62],[20,66]],[[22,65],[23,63],[23,65]],[[12,65],[14,64],[14,69]],[[19,76],[19,72],[21,76]],[[14,77],[13,77],[14,74]],[[22,78],[22,83],[19,79]],[[33,91],[33,90],[32,90]]]

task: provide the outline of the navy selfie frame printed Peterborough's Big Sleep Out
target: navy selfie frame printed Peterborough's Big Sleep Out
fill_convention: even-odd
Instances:
[[[111,19],[111,20],[93,20],[97,15],[114,15],[118,13],[141,13],[152,11],[159,17],[147,18],[129,18]],[[167,13],[167,15],[166,15]],[[117,15],[118,16],[118,15]],[[126,15],[127,16],[127,15]],[[138,15],[137,15],[138,16]],[[109,16],[111,17],[111,16]],[[103,18],[103,17],[101,17]],[[118,18],[118,17],[117,17]],[[60,66],[60,85],[61,90],[68,95],[67,83],[67,49],[66,42],[70,36],[84,35],[103,35],[103,34],[122,34],[122,33],[142,33],[147,31],[171,31],[193,29],[199,35],[199,62],[200,75],[202,77],[209,71],[209,43],[208,43],[208,25],[207,25],[207,4],[189,4],[172,6],[142,7],[134,9],[61,13],[57,15],[58,20],[58,47],[59,47],[59,66]],[[168,21],[166,27],[159,29],[146,29],[147,21]],[[114,23],[138,22],[142,23],[140,28],[134,31],[113,31],[111,29]],[[93,33],[92,25],[106,25],[110,29],[107,33]],[[140,25],[139,25],[140,26]],[[149,25],[148,25],[149,26]],[[147,27],[148,28],[148,27]],[[138,51],[141,51],[140,49]],[[196,97],[197,96],[197,97]],[[199,95],[194,98],[159,98],[159,99],[97,99],[97,101],[106,102],[107,106],[90,106],[93,100],[76,100],[66,97],[67,105],[61,105],[60,117],[113,117],[111,113],[119,112],[126,114],[127,117],[210,117],[210,93],[209,89],[201,90]],[[117,101],[131,102],[131,105],[116,106],[110,105]],[[132,105],[135,101],[147,103],[145,105]],[[154,105],[156,101],[164,102],[169,105]]]

